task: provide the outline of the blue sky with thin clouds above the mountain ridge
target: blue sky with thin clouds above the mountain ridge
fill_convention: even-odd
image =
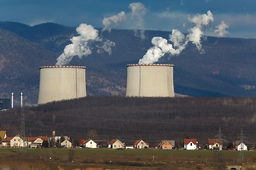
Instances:
[[[142,27],[145,30],[178,28],[186,33],[190,27],[188,17],[208,10],[213,13],[215,28],[221,21],[228,23],[226,37],[256,38],[255,0],[0,0],[0,21],[15,21],[36,25],[54,22],[77,27],[87,23],[102,28],[104,17],[120,11],[130,13],[129,4],[141,2],[146,7]],[[134,29],[136,24],[129,18],[112,28]],[[213,35],[212,31],[206,35]]]

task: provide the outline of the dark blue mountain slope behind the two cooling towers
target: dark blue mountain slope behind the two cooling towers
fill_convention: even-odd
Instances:
[[[0,22],[1,97],[26,91],[26,104],[37,103],[40,65],[54,65],[75,28],[56,23],[27,26]],[[7,35],[8,33],[8,35]],[[146,39],[134,36],[133,30],[101,33],[112,40],[112,54],[106,52],[74,57],[70,65],[85,65],[89,96],[124,96],[127,64],[137,63],[151,47],[151,38],[168,38],[166,31],[145,31]],[[174,90],[189,96],[256,96],[256,39],[214,38],[202,40],[204,53],[188,45],[178,56],[164,56],[160,63],[174,64]],[[6,62],[9,61],[9,62]],[[21,67],[23,69],[17,69]],[[17,72],[18,70],[18,72]],[[21,70],[21,72],[20,72]],[[9,78],[6,78],[9,77]],[[11,79],[11,81],[10,81]],[[17,101],[18,102],[18,101]]]

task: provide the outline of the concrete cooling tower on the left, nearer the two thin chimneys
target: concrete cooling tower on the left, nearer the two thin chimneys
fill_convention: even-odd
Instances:
[[[40,67],[38,104],[85,96],[85,67]]]

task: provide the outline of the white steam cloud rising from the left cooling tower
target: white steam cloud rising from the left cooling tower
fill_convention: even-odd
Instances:
[[[103,45],[97,45],[96,47],[111,54],[111,47],[114,46],[114,42],[110,40],[104,42],[99,37],[98,30],[85,23],[81,23],[75,30],[78,32],[78,36],[70,39],[72,43],[65,46],[63,53],[57,58],[56,66],[68,64],[74,56],[82,58],[92,54],[91,42],[101,42]]]

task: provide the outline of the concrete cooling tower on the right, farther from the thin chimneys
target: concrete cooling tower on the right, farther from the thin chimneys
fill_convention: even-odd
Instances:
[[[174,65],[127,64],[126,96],[174,97]]]

